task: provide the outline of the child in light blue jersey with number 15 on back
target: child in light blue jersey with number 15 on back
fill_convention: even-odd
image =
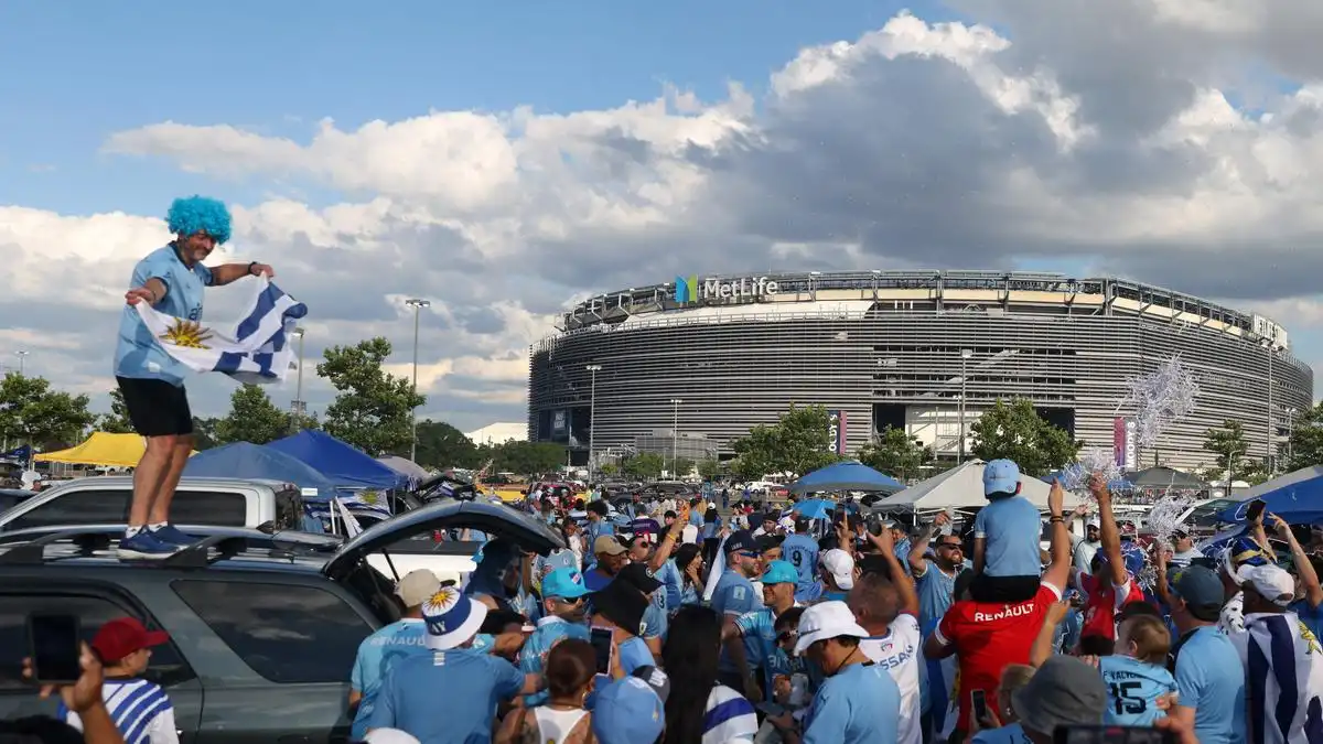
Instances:
[[[1107,684],[1105,723],[1147,727],[1167,716],[1176,694],[1176,679],[1163,666],[1170,650],[1171,635],[1162,620],[1140,614],[1121,624],[1115,653],[1098,658]]]

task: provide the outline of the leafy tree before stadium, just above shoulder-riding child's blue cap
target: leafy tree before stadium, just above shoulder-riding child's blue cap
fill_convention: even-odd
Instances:
[[[1046,475],[1074,461],[1084,442],[1070,440],[1070,434],[1039,416],[1028,400],[1009,405],[996,405],[983,412],[970,426],[974,434],[974,457],[1012,459],[1025,475]]]

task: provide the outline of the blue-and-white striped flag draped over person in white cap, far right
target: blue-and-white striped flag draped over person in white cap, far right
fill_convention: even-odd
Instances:
[[[1293,612],[1245,617],[1232,634],[1245,662],[1250,744],[1323,744],[1323,649]]]

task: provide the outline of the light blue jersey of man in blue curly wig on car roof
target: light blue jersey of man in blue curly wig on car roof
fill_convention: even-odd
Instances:
[[[165,283],[165,297],[153,307],[165,315],[188,320],[202,319],[202,291],[212,283],[212,270],[201,263],[184,266],[171,246],[159,248],[134,266],[130,287],[140,287],[148,279]],[[119,340],[115,344],[115,375],[118,377],[165,380],[183,385],[188,368],[172,359],[156,336],[147,328],[138,310],[130,304],[119,314]]]

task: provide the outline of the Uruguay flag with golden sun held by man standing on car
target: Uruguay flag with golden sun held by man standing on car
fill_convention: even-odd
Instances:
[[[165,353],[189,369],[221,372],[245,384],[283,383],[298,369],[290,335],[308,308],[266,277],[254,279],[243,282],[255,291],[241,320],[225,328],[172,318],[146,302],[134,307]]]

